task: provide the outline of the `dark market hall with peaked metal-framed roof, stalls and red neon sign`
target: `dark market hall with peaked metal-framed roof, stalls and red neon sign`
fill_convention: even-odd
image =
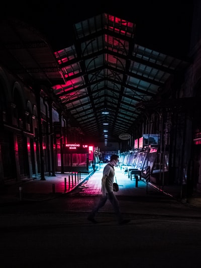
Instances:
[[[11,180],[90,173],[117,153],[156,185],[200,193],[199,6],[182,58],[137,44],[137,25],[108,13],[76,22],[57,51],[23,20],[1,20],[2,191]]]

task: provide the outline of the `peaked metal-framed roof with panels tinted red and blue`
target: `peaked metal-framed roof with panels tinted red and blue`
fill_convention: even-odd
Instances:
[[[188,65],[136,44],[135,24],[109,14],[73,30],[72,45],[55,52],[32,26],[7,19],[0,25],[0,61],[26,85],[52,92],[69,116],[69,129],[96,141],[130,133],[139,104],[152,101]]]

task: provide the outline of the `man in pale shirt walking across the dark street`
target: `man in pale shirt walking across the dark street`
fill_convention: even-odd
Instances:
[[[102,208],[106,201],[109,199],[111,204],[113,205],[113,209],[117,215],[117,221],[119,224],[126,224],[130,222],[130,220],[123,219],[122,214],[120,212],[119,201],[117,200],[114,191],[113,191],[113,183],[114,183],[114,176],[115,176],[115,166],[118,165],[119,162],[119,155],[113,154],[111,155],[110,161],[107,165],[105,165],[103,170],[103,177],[102,177],[102,188],[101,192],[102,195],[98,203],[93,207],[92,211],[89,213],[87,219],[92,223],[97,223],[94,219],[96,213],[100,208]]]

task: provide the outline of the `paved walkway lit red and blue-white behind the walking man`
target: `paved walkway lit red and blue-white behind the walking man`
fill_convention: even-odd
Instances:
[[[24,180],[19,183],[8,182],[6,185],[5,193],[0,196],[0,202],[5,199],[15,200],[46,200],[54,198],[61,194],[71,193],[76,188],[81,190],[81,194],[86,195],[99,195],[101,194],[101,179],[103,168],[105,164],[100,166],[98,170],[91,174],[77,174],[77,173],[56,173],[56,176],[45,176],[45,180],[40,177],[33,178],[32,180]],[[119,192],[117,195],[132,196],[143,191],[146,194],[146,186],[143,181],[138,181],[138,190],[136,188],[136,181],[128,178],[119,167],[116,168],[116,177],[119,184]],[[142,193],[141,193],[142,194]]]

